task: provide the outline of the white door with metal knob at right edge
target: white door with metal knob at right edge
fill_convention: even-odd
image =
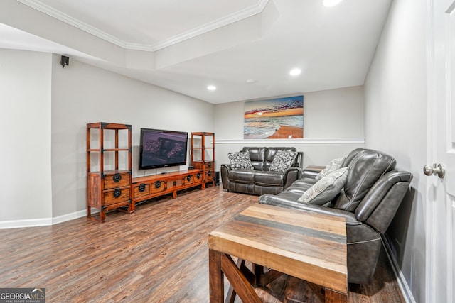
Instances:
[[[428,0],[427,302],[454,302],[455,0]],[[439,169],[434,168],[434,173]]]

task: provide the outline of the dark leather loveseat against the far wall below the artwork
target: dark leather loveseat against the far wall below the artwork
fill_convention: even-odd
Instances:
[[[294,164],[284,172],[269,170],[278,150],[297,153]],[[220,165],[223,189],[243,194],[278,194],[301,177],[303,153],[297,152],[296,148],[242,148],[242,152],[246,151],[250,153],[250,160],[254,169],[233,170],[229,164]]]

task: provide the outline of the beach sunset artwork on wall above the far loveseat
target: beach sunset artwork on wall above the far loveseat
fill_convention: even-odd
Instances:
[[[243,138],[304,138],[304,96],[245,102]]]

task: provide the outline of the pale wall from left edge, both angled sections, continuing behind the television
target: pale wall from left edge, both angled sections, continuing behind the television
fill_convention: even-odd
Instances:
[[[213,131],[212,104],[71,58],[68,67],[59,62],[60,55],[0,49],[0,228],[85,215],[87,123],[132,124],[134,177],[159,172],[138,170],[141,127]]]

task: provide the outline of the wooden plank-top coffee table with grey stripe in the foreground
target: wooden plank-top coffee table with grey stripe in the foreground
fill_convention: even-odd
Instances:
[[[267,281],[263,266],[274,277],[286,273],[324,287],[326,302],[347,302],[342,217],[257,204],[211,232],[208,248],[210,302],[224,302],[224,275],[242,302],[261,302],[252,285]],[[237,265],[231,256],[239,258]],[[242,260],[253,264],[252,272]]]

